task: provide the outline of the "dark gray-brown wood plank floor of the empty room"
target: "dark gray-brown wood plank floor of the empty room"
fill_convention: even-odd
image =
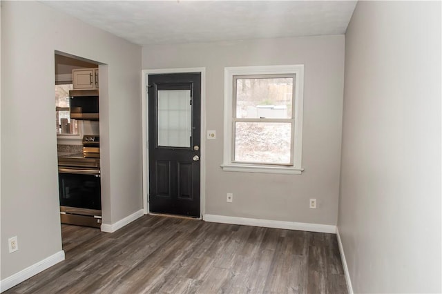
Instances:
[[[5,293],[347,293],[334,234],[145,215],[62,235],[66,260]]]

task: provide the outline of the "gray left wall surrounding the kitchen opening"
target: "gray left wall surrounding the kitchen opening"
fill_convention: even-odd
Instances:
[[[1,280],[61,251],[55,50],[105,63],[104,222],[142,208],[141,48],[38,2],[1,1]],[[19,251],[8,253],[17,235]]]

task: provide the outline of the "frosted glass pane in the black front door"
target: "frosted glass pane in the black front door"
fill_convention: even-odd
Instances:
[[[158,90],[157,99],[158,146],[190,147],[191,90]]]

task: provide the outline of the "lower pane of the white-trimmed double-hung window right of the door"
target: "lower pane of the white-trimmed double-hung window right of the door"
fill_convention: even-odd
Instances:
[[[291,164],[291,124],[235,123],[235,159],[238,162]]]

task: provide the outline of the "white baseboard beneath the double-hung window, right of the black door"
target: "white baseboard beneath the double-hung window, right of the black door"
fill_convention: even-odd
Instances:
[[[287,228],[289,230],[309,231],[319,233],[336,233],[336,226],[329,224],[309,224],[304,222],[283,222],[270,219],[249,219],[246,217],[227,217],[224,215],[204,215],[206,222],[222,224],[242,224],[245,226],[263,226],[265,228]]]

